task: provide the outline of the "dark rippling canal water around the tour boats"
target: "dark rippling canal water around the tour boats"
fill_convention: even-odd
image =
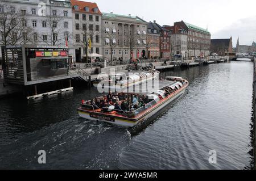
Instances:
[[[188,79],[185,95],[136,134],[79,118],[96,89],[0,100],[0,169],[250,169],[253,63],[161,73],[169,75]]]

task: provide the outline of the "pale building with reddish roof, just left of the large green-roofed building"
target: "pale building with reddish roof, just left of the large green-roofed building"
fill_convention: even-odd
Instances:
[[[171,56],[187,58],[188,56],[188,33],[178,26],[164,26],[171,31]]]

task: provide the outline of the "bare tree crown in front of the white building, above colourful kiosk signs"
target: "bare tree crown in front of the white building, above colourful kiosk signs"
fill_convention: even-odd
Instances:
[[[39,36],[39,39],[47,45],[59,46],[63,44],[66,38],[68,39],[71,36],[69,33],[65,33],[64,22],[61,16],[47,15],[42,21],[49,28],[49,31],[46,34],[47,39],[43,36]]]

